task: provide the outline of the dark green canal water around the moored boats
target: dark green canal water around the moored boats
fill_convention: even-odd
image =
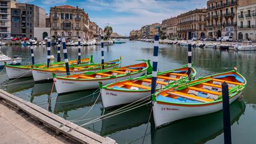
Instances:
[[[30,49],[2,46],[2,53],[7,56],[23,57],[22,64],[30,64]],[[46,62],[45,47],[35,47],[35,62]],[[77,47],[67,48],[69,59],[77,59]],[[57,57],[56,48],[51,51]],[[94,61],[100,62],[101,51],[98,46],[82,48],[82,57],[93,54]],[[61,54],[63,60],[63,55]],[[128,41],[126,44],[105,46],[105,61],[119,59],[122,56],[122,66],[135,64],[136,59],[152,59],[153,43]],[[187,48],[160,44],[158,69],[168,70],[187,64]],[[238,71],[247,79],[244,98],[231,104],[231,130],[233,143],[256,142],[256,52],[255,51],[219,51],[218,49],[193,49],[192,61],[197,70],[197,77],[233,70]],[[0,75],[1,85],[8,82],[5,72]],[[85,124],[93,117],[102,116],[105,111],[97,90],[79,91],[59,95],[51,88],[53,83],[34,83],[32,78],[15,80],[14,84],[1,87],[24,100],[48,109],[48,111],[64,117],[67,120],[77,120],[78,125]],[[19,82],[27,83],[19,83]],[[96,91],[96,92],[95,92]],[[51,102],[48,103],[51,97]],[[92,108],[93,106],[93,108]],[[90,111],[90,112],[88,112]],[[88,113],[88,114],[87,114]],[[117,143],[223,143],[222,112],[205,116],[192,117],[173,122],[161,129],[155,129],[153,119],[148,122],[149,107],[142,106],[117,116],[102,119],[93,124],[84,125],[104,137],[111,137]],[[147,133],[145,129],[148,125]]]

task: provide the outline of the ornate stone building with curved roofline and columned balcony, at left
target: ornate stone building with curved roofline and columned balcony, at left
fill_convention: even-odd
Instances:
[[[49,17],[51,36],[66,35],[68,40],[76,40],[77,36],[81,36],[82,40],[90,39],[90,20],[84,9],[78,6],[55,6],[50,8]]]

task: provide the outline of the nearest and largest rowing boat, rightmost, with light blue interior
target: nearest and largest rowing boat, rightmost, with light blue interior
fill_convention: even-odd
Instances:
[[[152,96],[155,127],[187,117],[220,111],[221,84],[229,85],[229,102],[244,90],[245,78],[236,71],[210,75],[177,87],[169,87]]]

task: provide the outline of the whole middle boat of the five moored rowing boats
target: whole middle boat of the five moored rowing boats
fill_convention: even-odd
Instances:
[[[56,77],[54,80],[57,93],[68,93],[70,91],[89,90],[99,87],[99,81],[106,85],[127,78],[140,77],[147,73],[150,61],[134,64],[126,67],[119,67],[110,70],[96,72],[85,72],[68,76]]]

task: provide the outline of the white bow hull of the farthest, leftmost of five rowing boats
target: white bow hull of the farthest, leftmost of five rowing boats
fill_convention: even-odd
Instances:
[[[9,79],[22,78],[22,77],[32,77],[32,71],[30,69],[19,68],[19,67],[9,67],[6,66],[6,74]]]

